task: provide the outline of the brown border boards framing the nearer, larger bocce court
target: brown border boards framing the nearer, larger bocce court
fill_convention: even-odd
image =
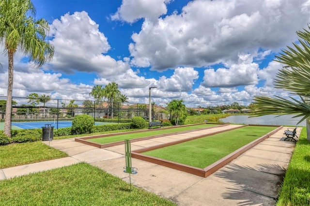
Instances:
[[[242,127],[247,126],[247,125],[243,125]],[[257,125],[256,125],[257,126]],[[241,128],[241,127],[238,127]],[[175,144],[179,144],[181,142],[186,142],[184,140],[182,141],[176,141],[176,142],[172,142],[172,143],[167,143],[167,144],[161,144],[158,146],[154,146],[154,147],[147,147],[147,148],[142,148],[142,149],[137,149],[131,152],[131,157],[139,159],[139,160],[143,160],[143,161],[147,161],[147,162],[152,162],[155,164],[159,164],[162,166],[166,166],[166,167],[170,167],[172,169],[177,169],[183,172],[187,172],[193,175],[197,175],[200,177],[208,177],[210,175],[212,175],[214,172],[216,172],[218,169],[222,168],[223,166],[225,166],[226,164],[228,164],[229,162],[232,162],[234,159],[236,159],[237,157],[239,157],[241,154],[243,154],[244,152],[248,151],[250,148],[254,147],[255,145],[259,144],[260,142],[262,142],[263,140],[265,140],[266,138],[268,138],[270,135],[278,132],[279,130],[281,130],[283,128],[283,126],[278,127],[277,129],[268,132],[267,134],[263,135],[262,137],[248,143],[247,145],[237,149],[236,151],[234,151],[233,153],[225,156],[224,158],[218,160],[217,162],[214,162],[213,164],[205,167],[204,169],[201,168],[197,168],[197,167],[192,167],[189,165],[185,165],[185,164],[181,164],[181,163],[177,163],[177,162],[171,162],[171,161],[167,161],[167,160],[163,160],[163,159],[159,159],[159,158],[155,158],[155,157],[151,157],[151,156],[147,156],[147,155],[143,155],[140,154],[142,152],[146,152],[146,151],[150,151],[150,150],[154,150],[157,148],[161,148],[161,147],[167,147],[167,146],[171,146],[171,145],[175,145]],[[235,128],[237,129],[237,128]],[[230,131],[226,130],[226,131]],[[223,131],[223,132],[226,132]],[[204,136],[209,136],[212,134],[216,134],[218,132],[214,132],[208,135],[202,135],[200,137],[197,138],[201,138]],[[188,138],[186,139],[187,141],[190,141],[192,139],[197,139],[197,138]]]

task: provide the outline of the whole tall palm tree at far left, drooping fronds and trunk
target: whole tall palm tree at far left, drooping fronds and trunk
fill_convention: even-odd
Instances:
[[[35,19],[31,0],[0,0],[0,43],[8,56],[8,88],[4,133],[11,136],[14,54],[18,50],[28,56],[37,68],[54,55],[54,46],[45,42],[49,30],[45,19]]]

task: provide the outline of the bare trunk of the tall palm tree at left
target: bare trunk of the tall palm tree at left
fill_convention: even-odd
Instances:
[[[11,115],[12,115],[12,92],[13,92],[13,68],[14,52],[8,51],[9,71],[8,71],[8,90],[6,96],[4,133],[11,137]]]

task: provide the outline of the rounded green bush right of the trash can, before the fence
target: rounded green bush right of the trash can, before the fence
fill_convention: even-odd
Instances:
[[[71,134],[91,133],[94,120],[90,115],[78,115],[72,120]]]

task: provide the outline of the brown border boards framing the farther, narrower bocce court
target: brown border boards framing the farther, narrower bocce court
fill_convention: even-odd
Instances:
[[[209,123],[209,124],[211,124],[211,123]],[[202,124],[193,124],[193,125],[202,125]],[[193,125],[190,125],[190,126],[193,126]],[[194,130],[187,130],[187,131],[182,131],[182,132],[170,132],[170,133],[166,133],[166,134],[158,134],[158,135],[153,135],[153,136],[147,136],[147,137],[140,137],[140,138],[136,138],[136,139],[131,139],[130,141],[131,142],[139,142],[139,141],[148,140],[148,139],[154,139],[154,138],[158,138],[158,137],[164,137],[164,136],[175,135],[175,134],[182,134],[182,133],[185,133],[185,132],[194,132],[194,131],[212,129],[212,128],[217,128],[217,127],[224,127],[224,126],[227,126],[227,125],[229,125],[229,124],[219,124],[217,126],[211,126],[211,127],[206,127],[206,128],[199,128],[199,129],[194,129]],[[185,125],[181,125],[181,126],[177,126],[177,127],[186,127],[186,126]],[[157,129],[154,129],[154,130],[159,130],[159,129],[160,130],[171,129],[171,127],[169,127],[169,128],[157,128]],[[112,142],[112,143],[107,143],[107,144],[99,144],[99,143],[88,141],[87,139],[94,139],[94,138],[101,138],[101,137],[110,137],[110,136],[116,136],[116,135],[121,135],[121,134],[139,133],[139,132],[146,132],[146,131],[147,130],[139,130],[139,131],[132,131],[132,132],[120,132],[120,133],[115,133],[115,134],[113,133],[113,134],[94,135],[94,136],[87,136],[87,137],[78,137],[78,138],[75,138],[75,141],[83,143],[83,144],[86,144],[86,145],[91,145],[93,147],[98,147],[98,148],[114,147],[114,146],[118,146],[118,145],[123,145],[124,141]]]

